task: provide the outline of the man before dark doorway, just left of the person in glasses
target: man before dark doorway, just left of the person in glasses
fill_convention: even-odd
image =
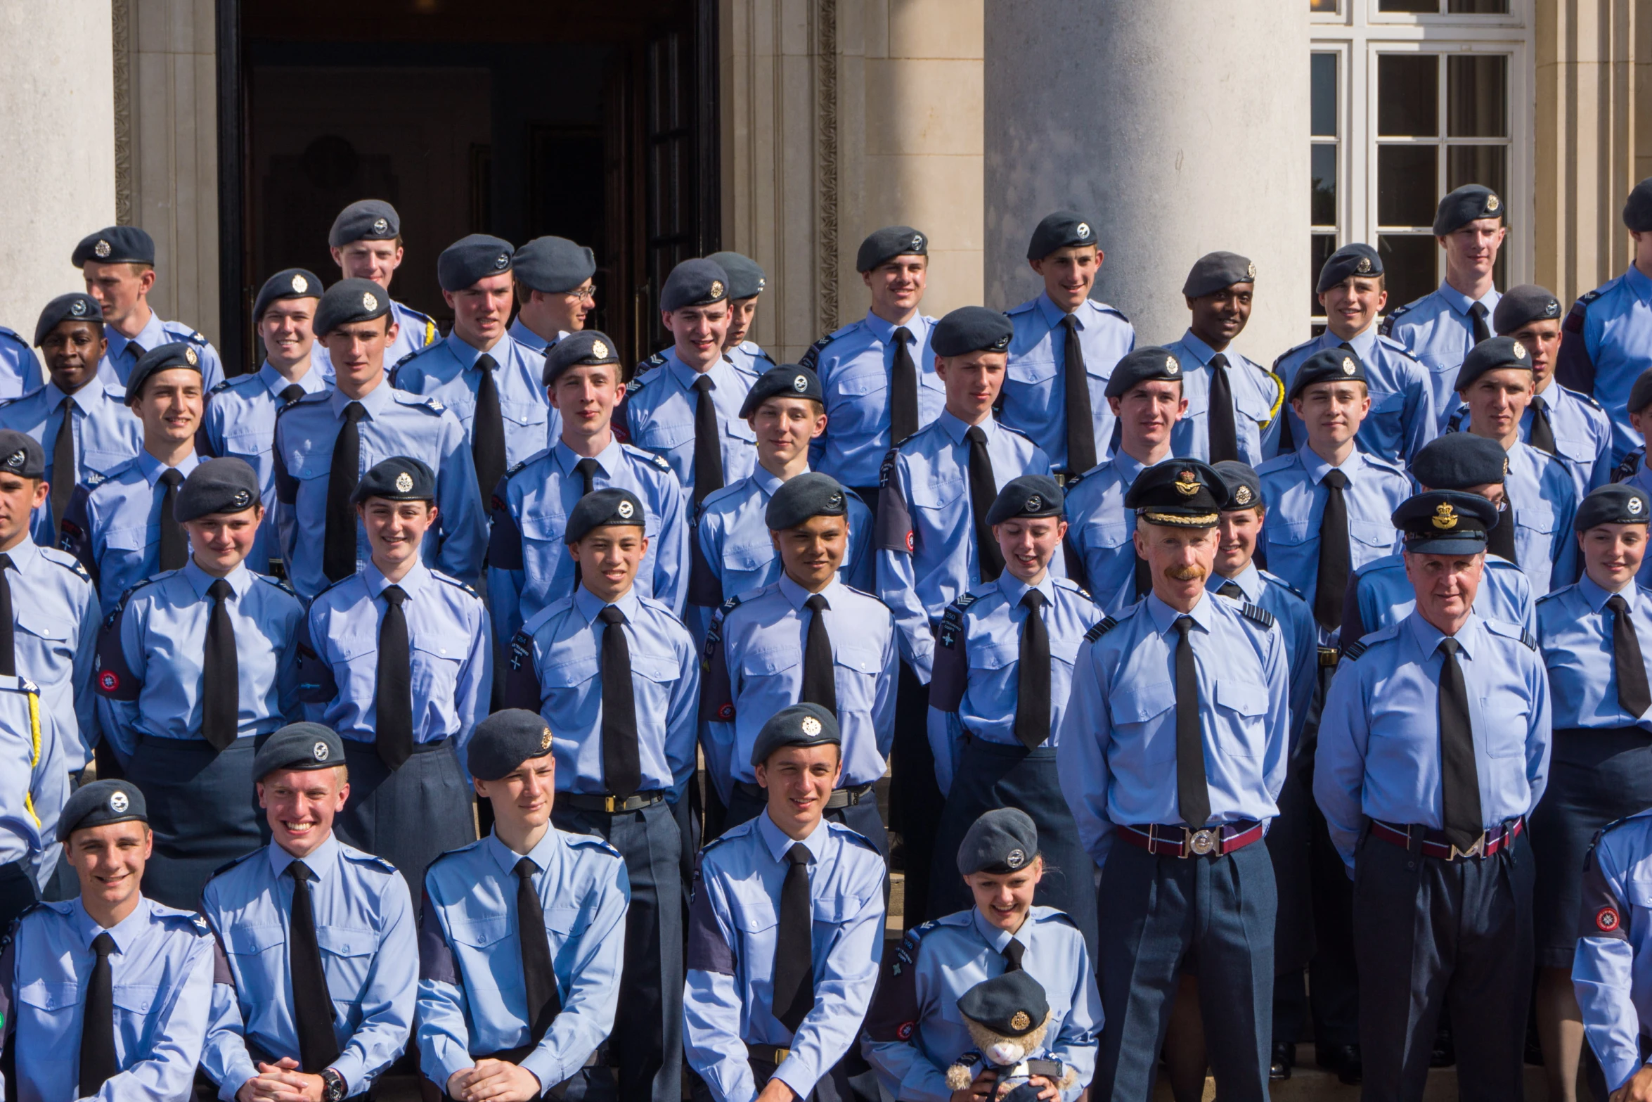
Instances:
[[[506,332],[510,259],[510,243],[486,233],[443,249],[436,279],[453,311],[453,332],[390,373],[392,387],[439,398],[464,425],[484,506],[507,468],[557,438],[557,418],[540,382],[545,357]]]

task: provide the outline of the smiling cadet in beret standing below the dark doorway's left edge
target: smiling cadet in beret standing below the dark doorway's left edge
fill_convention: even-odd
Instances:
[[[195,441],[205,456],[233,456],[258,471],[264,520],[248,558],[258,570],[286,577],[276,534],[276,415],[304,395],[327,390],[329,380],[312,365],[316,307],[320,279],[302,268],[278,271],[253,302],[253,324],[264,345],[264,362],[249,375],[213,388]]]

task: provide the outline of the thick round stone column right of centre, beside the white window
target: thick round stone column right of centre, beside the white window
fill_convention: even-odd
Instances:
[[[1070,207],[1107,258],[1094,296],[1142,344],[1188,325],[1213,249],[1256,261],[1236,345],[1267,365],[1308,337],[1303,0],[986,0],[986,304],[1041,289],[1026,246]]]

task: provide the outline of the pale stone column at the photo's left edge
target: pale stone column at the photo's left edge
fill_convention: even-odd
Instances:
[[[83,289],[69,253],[114,221],[109,0],[5,0],[0,36],[0,325],[35,339],[40,307]]]

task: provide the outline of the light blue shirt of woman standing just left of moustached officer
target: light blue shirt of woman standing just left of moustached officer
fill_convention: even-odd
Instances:
[[[1084,633],[1102,618],[1082,588],[1047,570],[1037,585],[1028,585],[1004,570],[996,582],[983,582],[942,613],[935,648],[935,676],[930,681],[928,739],[935,752],[935,783],[952,791],[965,735],[1021,745],[1016,739],[1016,697],[1021,687],[1021,634],[1029,610],[1021,603],[1037,590],[1044,603],[1039,616],[1049,636],[1049,734],[1044,745],[1061,740],[1061,717],[1067,710],[1072,663]]]

